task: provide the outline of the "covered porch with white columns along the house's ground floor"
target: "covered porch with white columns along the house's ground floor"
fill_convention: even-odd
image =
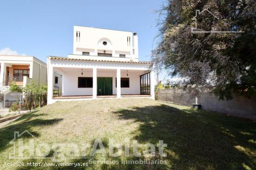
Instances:
[[[48,98],[49,104],[55,101],[105,98],[155,98],[154,75],[148,71],[148,65],[142,68],[141,65],[137,68],[128,67],[130,64],[122,64],[122,67],[118,67],[120,64],[115,65],[110,68],[100,67],[99,64],[91,68],[82,64],[75,68],[64,67],[63,64],[61,67],[49,67],[49,73],[52,69],[52,77],[48,80],[48,93],[51,92],[51,98]],[[56,78],[56,75],[59,77]],[[57,79],[58,83],[61,81],[61,86],[58,87],[58,95],[53,95],[54,90],[56,91],[54,87],[57,85],[55,82]]]

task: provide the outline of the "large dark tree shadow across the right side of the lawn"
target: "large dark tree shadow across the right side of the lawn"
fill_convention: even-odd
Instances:
[[[139,143],[158,140],[173,169],[256,169],[256,123],[222,114],[161,106],[133,107],[115,112],[121,119],[140,122]],[[246,135],[247,134],[247,135]],[[248,135],[250,134],[250,135]],[[247,151],[249,150],[249,151]],[[154,169],[154,168],[153,168]]]

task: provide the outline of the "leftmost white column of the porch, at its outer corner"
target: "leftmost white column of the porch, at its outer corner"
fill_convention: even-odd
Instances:
[[[50,60],[48,62],[48,89],[47,89],[47,105],[52,104],[53,100],[53,86],[54,86],[54,68],[50,63]]]

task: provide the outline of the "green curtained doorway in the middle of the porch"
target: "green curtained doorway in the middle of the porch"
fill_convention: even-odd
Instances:
[[[97,77],[97,95],[112,95],[112,77]]]

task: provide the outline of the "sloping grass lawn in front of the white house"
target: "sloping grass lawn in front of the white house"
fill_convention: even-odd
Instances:
[[[114,139],[115,143],[122,146],[125,138],[138,140],[141,144],[154,145],[158,140],[163,140],[167,143],[164,150],[167,157],[142,157],[164,160],[165,164],[89,164],[87,167],[76,168],[28,167],[27,162],[40,163],[51,160],[8,159],[9,152],[13,152],[13,145],[9,144],[13,139],[13,132],[24,130],[28,130],[41,142],[49,145],[92,144],[95,139],[100,138],[107,149],[108,138]],[[24,143],[31,139],[26,135],[22,138]],[[52,155],[53,151],[48,157]],[[123,154],[120,157],[107,158],[116,161],[127,159],[139,158],[124,157]],[[77,158],[62,162],[88,161]],[[24,162],[25,166],[7,167],[5,163],[8,162]],[[34,113],[28,113],[0,129],[0,164],[0,169],[5,170],[255,170],[256,122],[149,99],[57,102]]]

